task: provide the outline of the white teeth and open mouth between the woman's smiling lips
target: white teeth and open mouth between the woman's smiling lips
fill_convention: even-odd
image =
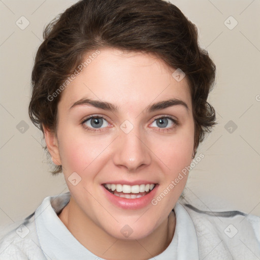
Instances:
[[[104,187],[117,197],[125,199],[138,199],[148,194],[156,183],[141,185],[125,185],[125,184],[103,184]]]

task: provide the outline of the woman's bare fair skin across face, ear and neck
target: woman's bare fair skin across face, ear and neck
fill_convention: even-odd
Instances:
[[[112,180],[150,180],[158,183],[156,198],[182,169],[193,153],[194,121],[186,78],[177,82],[164,61],[141,52],[100,50],[98,57],[62,91],[58,103],[56,133],[44,126],[53,163],[62,165],[71,200],[58,215],[74,237],[88,250],[106,259],[148,259],[163,252],[175,230],[172,211],[180,197],[186,175],[157,205],[121,209],[104,197],[103,183]],[[89,55],[89,54],[88,54]],[[88,56],[86,55],[86,56]],[[71,106],[89,98],[118,106],[111,112],[88,105]],[[169,99],[181,105],[146,113],[147,106]],[[90,115],[103,116],[100,132],[91,132]],[[172,116],[163,128],[156,117]],[[120,125],[128,120],[134,128],[125,134]],[[174,126],[174,127],[173,127]],[[169,132],[164,131],[166,128]],[[76,172],[81,181],[68,178]],[[129,225],[133,233],[125,238],[120,230]]]

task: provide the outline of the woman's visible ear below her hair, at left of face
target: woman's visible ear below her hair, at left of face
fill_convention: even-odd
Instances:
[[[44,139],[47,145],[48,151],[51,155],[51,159],[55,165],[61,165],[60,155],[59,155],[59,147],[58,147],[58,140],[52,131],[45,125],[43,125],[44,131]]]

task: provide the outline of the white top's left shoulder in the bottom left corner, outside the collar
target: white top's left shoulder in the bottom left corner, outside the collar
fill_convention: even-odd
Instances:
[[[0,259],[46,260],[39,245],[34,213],[21,221],[1,227]]]

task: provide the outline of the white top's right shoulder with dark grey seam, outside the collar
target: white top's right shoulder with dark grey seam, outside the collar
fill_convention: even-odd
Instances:
[[[183,201],[180,204],[194,224],[202,258],[260,257],[260,217],[237,210],[199,209]]]

